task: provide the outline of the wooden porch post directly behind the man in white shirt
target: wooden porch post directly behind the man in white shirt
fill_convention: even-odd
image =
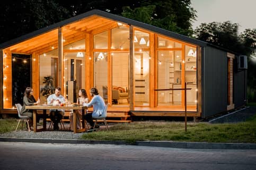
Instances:
[[[63,64],[63,32],[62,28],[58,29],[58,84],[61,89],[64,89],[64,64]]]

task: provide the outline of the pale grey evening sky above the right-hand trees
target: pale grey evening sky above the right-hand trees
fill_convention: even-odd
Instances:
[[[201,23],[225,22],[239,24],[239,32],[256,29],[256,0],[191,0],[197,11],[196,29]]]

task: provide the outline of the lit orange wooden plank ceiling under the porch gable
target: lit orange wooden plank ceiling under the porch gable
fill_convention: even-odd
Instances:
[[[85,39],[86,33],[96,34],[117,26],[116,21],[92,15],[83,20],[64,25],[62,27],[65,40],[63,44],[67,45]],[[12,45],[5,50],[10,50],[12,53],[42,54],[53,50],[53,48],[58,48],[58,28]]]

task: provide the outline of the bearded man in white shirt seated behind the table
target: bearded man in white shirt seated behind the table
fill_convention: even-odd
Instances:
[[[60,105],[61,103],[65,103],[65,98],[60,95],[60,91],[60,87],[55,88],[55,94],[52,94],[47,98],[47,105],[53,105],[53,103],[58,103],[58,105]],[[58,123],[63,119],[63,116],[63,109],[50,110],[49,117],[51,121],[54,122],[54,130],[59,130]]]

